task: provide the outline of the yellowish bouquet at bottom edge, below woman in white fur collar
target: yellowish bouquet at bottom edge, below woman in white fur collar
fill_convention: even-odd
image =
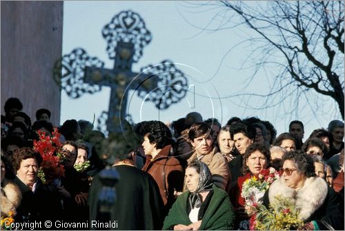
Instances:
[[[288,198],[278,195],[276,202],[266,208],[257,204],[249,220],[250,230],[313,230],[312,223],[299,219],[299,210]]]

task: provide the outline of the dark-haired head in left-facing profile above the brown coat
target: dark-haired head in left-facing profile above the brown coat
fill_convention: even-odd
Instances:
[[[142,146],[146,155],[154,158],[165,146],[173,144],[172,134],[168,126],[161,121],[151,120],[145,124],[144,142]]]

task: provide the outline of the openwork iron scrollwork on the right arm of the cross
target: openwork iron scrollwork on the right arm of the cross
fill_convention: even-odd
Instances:
[[[157,78],[157,87],[151,91],[138,91],[138,96],[155,103],[157,109],[167,109],[186,96],[188,80],[172,61],[162,61],[159,65],[148,65],[141,72]],[[150,78],[146,81],[150,81]],[[143,83],[145,84],[145,82]]]

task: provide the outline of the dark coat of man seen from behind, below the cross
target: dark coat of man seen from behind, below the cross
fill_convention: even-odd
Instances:
[[[163,202],[159,188],[148,173],[134,166],[133,157],[132,152],[130,157],[119,160],[112,167],[119,173],[115,203],[110,208],[110,221],[115,221],[116,226],[106,229],[161,230],[164,217],[161,216]],[[89,191],[90,230],[103,229],[95,221],[107,220],[99,212],[99,195],[103,186],[100,174],[92,180]]]

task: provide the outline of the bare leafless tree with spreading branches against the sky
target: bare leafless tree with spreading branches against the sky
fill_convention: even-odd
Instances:
[[[344,119],[343,1],[220,4],[230,12],[226,15],[227,23],[233,23],[229,30],[246,25],[256,32],[257,36],[249,40],[262,52],[259,66],[281,67],[277,89],[265,97],[282,93],[287,87],[314,90],[335,100]]]

